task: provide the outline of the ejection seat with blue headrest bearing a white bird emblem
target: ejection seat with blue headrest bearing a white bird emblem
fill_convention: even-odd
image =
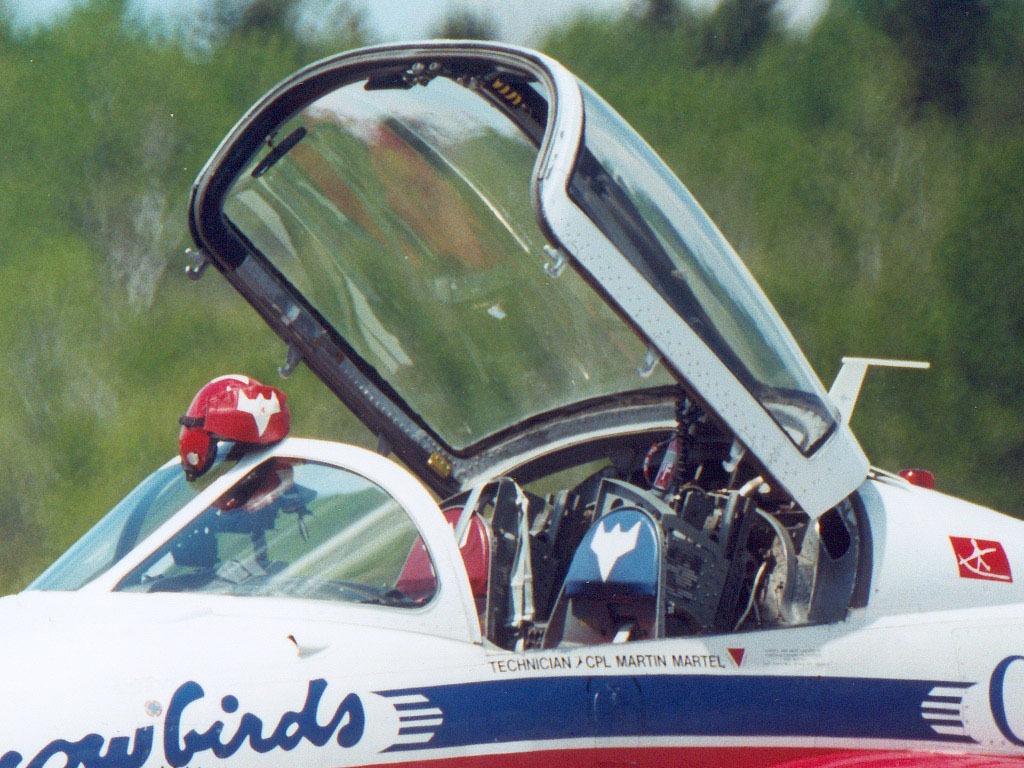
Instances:
[[[636,507],[608,512],[572,556],[544,646],[655,637],[660,586],[660,526]]]

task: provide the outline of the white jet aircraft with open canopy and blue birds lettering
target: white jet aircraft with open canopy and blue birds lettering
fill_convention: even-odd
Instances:
[[[378,451],[204,388],[181,457],[0,600],[0,768],[1024,762],[1024,524],[872,468],[879,361],[826,391],[555,60],[311,65],[189,224]]]

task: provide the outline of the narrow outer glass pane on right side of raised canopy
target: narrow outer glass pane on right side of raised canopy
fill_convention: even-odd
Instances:
[[[788,330],[689,191],[582,85],[585,147],[569,196],[729,368],[803,453],[836,427]]]

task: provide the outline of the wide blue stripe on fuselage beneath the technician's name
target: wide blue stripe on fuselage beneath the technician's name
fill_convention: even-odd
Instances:
[[[936,686],[971,683],[760,675],[536,677],[379,691],[421,694],[444,722],[434,737],[400,749],[440,749],[598,735],[594,683],[639,687],[637,736],[810,736],[972,741],[934,731],[922,703]]]

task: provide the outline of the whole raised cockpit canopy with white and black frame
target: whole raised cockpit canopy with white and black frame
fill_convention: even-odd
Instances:
[[[197,244],[437,489],[685,391],[812,516],[866,461],[714,223],[540,54],[385,46],[303,70],[194,189]]]

